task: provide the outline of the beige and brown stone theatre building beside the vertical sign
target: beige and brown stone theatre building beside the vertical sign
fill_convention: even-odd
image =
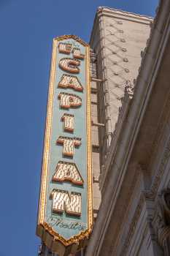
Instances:
[[[76,255],[170,255],[170,1],[99,7],[90,37],[93,232]],[[53,255],[45,244],[39,255]]]

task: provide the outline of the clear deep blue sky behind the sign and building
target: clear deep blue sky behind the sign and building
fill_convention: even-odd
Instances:
[[[98,6],[155,16],[157,0],[0,0],[0,256],[36,256],[35,236],[53,37],[89,41]]]

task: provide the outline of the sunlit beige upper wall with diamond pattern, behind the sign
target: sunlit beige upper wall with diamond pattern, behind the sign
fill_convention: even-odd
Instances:
[[[114,134],[125,85],[133,85],[141,52],[150,34],[151,18],[99,7],[90,38],[97,55],[98,121],[101,170]]]

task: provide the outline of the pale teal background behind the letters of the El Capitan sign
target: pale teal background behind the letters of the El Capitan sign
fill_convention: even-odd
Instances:
[[[85,54],[85,46],[81,45],[74,39],[63,39],[59,42],[71,42],[73,47],[80,48],[80,52]],[[59,43],[58,42],[58,43]],[[57,45],[58,48],[58,45]],[[64,72],[58,63],[60,59],[63,58],[73,58],[72,53],[63,54],[59,53],[57,49],[56,56],[56,69],[55,69],[55,88],[53,97],[53,121],[51,129],[51,139],[50,139],[50,159],[48,165],[48,186],[47,186],[47,207],[45,214],[45,222],[53,227],[56,233],[60,234],[66,239],[72,236],[78,235],[81,231],[88,228],[88,195],[87,195],[87,78],[86,78],[86,67],[85,59],[80,60],[80,73],[77,74],[77,78],[83,86],[83,91],[74,91],[74,89],[61,89],[58,88],[58,83],[61,80],[63,74],[74,75],[69,72]],[[59,106],[58,94],[61,92],[66,92],[70,94],[76,94],[81,97],[82,105],[78,108],[69,108],[69,110],[62,109]],[[69,113],[74,115],[74,132],[63,132],[63,122],[61,117],[63,113]],[[56,144],[56,140],[59,136],[65,136],[69,138],[77,137],[82,139],[82,144],[80,147],[75,148],[74,157],[68,158],[63,157],[62,150],[63,146]],[[52,181],[53,175],[55,173],[55,168],[59,161],[74,162],[80,174],[84,180],[82,186],[74,185],[70,182],[54,182]],[[82,195],[82,214],[80,217],[74,217],[66,214],[53,214],[52,211],[52,199],[50,199],[50,194],[53,189],[62,189],[68,192],[79,192]],[[63,224],[58,224],[58,218],[63,221]],[[74,222],[75,225],[72,225]],[[77,222],[77,223],[76,223]],[[58,224],[58,225],[57,225]],[[81,226],[81,227],[80,227]]]

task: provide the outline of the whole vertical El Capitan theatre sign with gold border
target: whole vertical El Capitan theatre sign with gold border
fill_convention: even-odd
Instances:
[[[80,249],[93,225],[89,51],[75,36],[53,40],[37,225],[53,252]]]

